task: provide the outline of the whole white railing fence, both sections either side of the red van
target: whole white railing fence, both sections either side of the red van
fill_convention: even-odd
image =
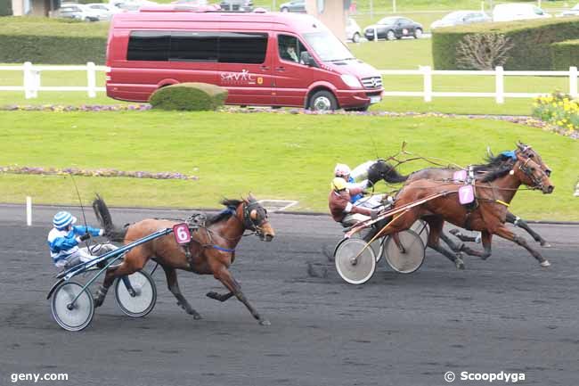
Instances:
[[[86,91],[90,98],[96,97],[99,91],[105,91],[105,87],[96,86],[96,71],[110,71],[109,67],[96,66],[94,62],[77,66],[37,66],[25,62],[21,66],[0,66],[0,71],[22,71],[23,86],[0,86],[0,91],[24,91],[27,99],[37,98],[38,91]],[[42,71],[86,71],[86,86],[42,86]],[[494,98],[496,103],[504,103],[505,98],[533,98],[542,93],[506,93],[504,90],[505,77],[567,77],[569,80],[569,94],[576,98],[577,94],[577,68],[570,67],[568,71],[505,71],[502,67],[494,70],[432,70],[430,66],[420,66],[419,70],[379,70],[383,77],[416,75],[423,78],[422,91],[385,91],[384,96],[419,96],[424,102],[432,102],[434,97],[477,97]],[[445,92],[434,91],[432,88],[433,76],[493,76],[494,92]]]

